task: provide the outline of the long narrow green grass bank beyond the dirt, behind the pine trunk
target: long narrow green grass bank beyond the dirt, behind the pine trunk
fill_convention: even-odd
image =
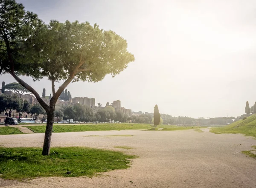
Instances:
[[[35,133],[44,133],[46,126],[26,126]],[[53,125],[54,133],[81,132],[93,130],[125,130],[125,129],[148,129],[149,124],[84,124],[84,125]]]

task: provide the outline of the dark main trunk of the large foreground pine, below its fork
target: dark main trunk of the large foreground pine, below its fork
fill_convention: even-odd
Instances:
[[[50,110],[49,112],[47,112],[47,124],[46,124],[46,130],[44,134],[44,146],[43,146],[43,152],[42,152],[43,155],[50,154],[52,127],[53,127],[53,121],[54,121],[54,110],[55,110],[55,104],[54,105],[50,104]]]

